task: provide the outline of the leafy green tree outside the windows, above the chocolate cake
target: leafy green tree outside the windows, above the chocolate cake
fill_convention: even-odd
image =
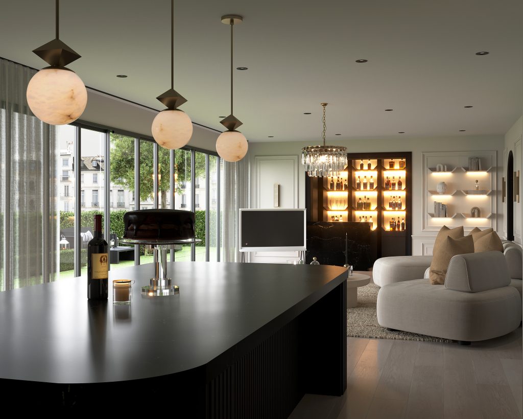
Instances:
[[[140,141],[140,200],[153,196],[153,145],[152,141]],[[175,190],[181,195],[185,183],[191,181],[190,151],[175,150]],[[158,148],[158,191],[161,194],[161,208],[167,208],[167,194],[170,188],[170,151]],[[205,155],[196,153],[196,177],[205,178]],[[134,191],[134,138],[111,133],[111,182]]]

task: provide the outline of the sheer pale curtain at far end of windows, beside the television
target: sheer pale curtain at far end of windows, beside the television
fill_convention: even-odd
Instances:
[[[239,162],[223,162],[223,262],[241,260],[238,252],[238,217],[240,208],[249,206],[249,153]]]

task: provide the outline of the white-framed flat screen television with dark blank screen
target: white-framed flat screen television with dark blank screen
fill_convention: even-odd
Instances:
[[[305,209],[240,209],[240,252],[306,250]]]

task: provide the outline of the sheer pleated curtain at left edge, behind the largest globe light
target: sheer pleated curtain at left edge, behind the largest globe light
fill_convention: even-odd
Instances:
[[[0,59],[0,290],[48,282],[59,267],[56,129],[27,106],[35,70]]]

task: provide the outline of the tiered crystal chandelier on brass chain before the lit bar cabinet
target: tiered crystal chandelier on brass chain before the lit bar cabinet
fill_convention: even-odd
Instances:
[[[326,145],[325,131],[325,106],[323,106],[323,145],[309,145],[302,150],[301,164],[309,176],[339,176],[347,167],[347,148],[341,145]]]

